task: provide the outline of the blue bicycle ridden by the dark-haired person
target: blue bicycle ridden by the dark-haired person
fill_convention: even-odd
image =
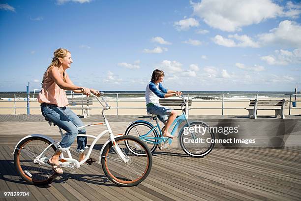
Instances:
[[[182,115],[177,117],[172,123],[170,129],[172,129],[171,135],[177,133],[182,150],[192,157],[204,157],[209,154],[213,147],[215,137],[211,132],[209,125],[202,121],[189,122],[185,111],[188,108],[188,100],[181,96],[183,102],[181,105]],[[168,147],[172,139],[163,136],[161,128],[159,126],[156,115],[148,113],[151,120],[156,122],[156,126],[148,121],[138,120],[132,122],[126,129],[125,135],[133,135],[143,140],[153,153],[157,147],[162,150],[164,147]],[[126,143],[126,142],[125,142]],[[134,149],[128,146],[128,149],[136,155],[145,155],[145,153],[136,153]]]

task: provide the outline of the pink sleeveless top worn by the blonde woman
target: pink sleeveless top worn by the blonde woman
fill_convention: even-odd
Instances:
[[[65,90],[61,89],[49,76],[43,83],[42,90],[37,96],[37,101],[56,104],[58,107],[64,107],[69,104]]]

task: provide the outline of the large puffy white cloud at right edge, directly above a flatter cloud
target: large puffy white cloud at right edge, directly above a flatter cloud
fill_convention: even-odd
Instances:
[[[280,22],[277,28],[270,30],[270,33],[262,33],[258,37],[265,45],[282,44],[301,47],[301,26],[296,22],[285,20]]]

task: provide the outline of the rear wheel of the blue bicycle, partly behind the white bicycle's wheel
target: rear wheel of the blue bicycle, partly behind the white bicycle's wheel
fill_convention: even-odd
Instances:
[[[151,138],[141,137],[141,135],[144,135],[144,134],[147,134],[148,132],[150,132],[152,128],[153,128],[152,125],[147,124],[145,122],[134,122],[129,127],[127,127],[124,135],[132,135],[132,136],[138,137],[144,143],[147,144],[147,146],[151,150],[151,153],[153,153],[156,150],[157,146],[158,146],[157,142],[159,140],[158,139],[151,139]],[[159,135],[157,134],[157,131],[153,130],[146,137],[158,137],[158,136]],[[127,144],[125,144],[125,145],[127,145]],[[129,150],[131,150],[130,146],[127,146],[127,147],[128,147]],[[133,151],[133,150],[131,150],[131,151]],[[145,153],[135,153],[135,154],[137,154],[137,155],[145,155]]]

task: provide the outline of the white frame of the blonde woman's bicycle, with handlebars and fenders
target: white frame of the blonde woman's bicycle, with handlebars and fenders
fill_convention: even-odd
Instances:
[[[103,94],[102,94],[102,95],[103,95]],[[116,151],[116,153],[118,153],[118,155],[120,156],[120,158],[122,159],[122,161],[123,161],[124,163],[128,163],[127,157],[124,156],[124,154],[123,154],[122,151],[120,150],[120,147],[117,145],[117,143],[116,143],[116,141],[115,141],[115,138],[116,138],[116,137],[119,137],[120,134],[118,134],[118,135],[116,135],[116,136],[113,134],[112,129],[111,129],[111,127],[110,127],[110,124],[109,124],[107,118],[105,117],[105,115],[104,115],[104,113],[103,113],[105,110],[110,109],[110,106],[108,105],[108,103],[106,102],[106,100],[104,99],[103,96],[101,96],[101,97],[102,97],[102,100],[105,102],[106,105],[103,105],[103,103],[101,102],[101,100],[99,100],[99,98],[98,98],[97,96],[92,95],[92,94],[91,94],[91,96],[95,97],[95,98],[99,101],[99,103],[103,106],[103,110],[102,110],[101,114],[102,114],[102,116],[103,116],[103,118],[104,118],[104,123],[89,124],[89,125],[85,125],[85,126],[78,127],[77,129],[80,130],[80,129],[83,129],[83,128],[86,128],[86,127],[90,127],[90,126],[100,126],[100,125],[105,125],[105,126],[107,127],[107,129],[106,129],[105,131],[103,131],[102,133],[98,134],[97,136],[89,135],[89,134],[78,134],[77,136],[84,136],[84,137],[92,137],[92,138],[94,138],[94,140],[92,141],[92,143],[91,143],[91,145],[90,145],[89,151],[88,151],[88,153],[87,153],[85,159],[84,159],[83,161],[81,161],[81,162],[78,162],[76,159],[73,159],[69,150],[66,151],[66,152],[67,152],[67,155],[68,155],[68,158],[65,158],[65,157],[63,156],[63,152],[62,152],[61,155],[60,155],[60,166],[62,166],[62,167],[67,167],[67,166],[69,165],[69,163],[66,163],[66,162],[71,162],[71,163],[73,162],[73,163],[76,164],[76,167],[80,167],[82,164],[84,164],[84,163],[89,159],[90,154],[91,154],[91,152],[92,152],[92,149],[93,149],[94,145],[96,144],[96,142],[97,142],[104,134],[106,134],[106,133],[109,133],[109,134],[110,134],[110,138],[104,143],[104,145],[102,146],[102,148],[101,148],[101,150],[100,150],[98,164],[101,163],[101,155],[102,155],[102,152],[103,152],[104,147],[105,147],[108,143],[110,143],[110,142],[113,143],[113,148],[114,148],[114,150]],[[51,123],[50,123],[50,124],[51,124]],[[62,132],[62,130],[60,129],[60,127],[59,127],[59,130],[60,130],[60,135],[61,135],[61,137],[63,137],[65,134],[63,134],[63,132]],[[121,135],[122,135],[122,134],[121,134]],[[19,144],[21,141],[23,141],[24,139],[26,139],[26,138],[28,138],[28,137],[31,137],[31,136],[35,136],[35,135],[28,135],[28,136],[26,136],[26,137],[23,137],[23,138],[17,143],[17,145],[16,145],[16,147],[15,147],[15,149],[14,149],[14,151],[13,151],[12,154],[14,154],[14,152],[15,152],[15,150],[16,150],[18,144]],[[47,146],[47,147],[44,149],[44,151],[43,151],[39,156],[37,156],[37,157],[34,159],[34,162],[35,162],[35,163],[40,163],[40,164],[43,164],[43,165],[46,165],[46,166],[50,166],[50,165],[47,164],[47,159],[41,158],[41,156],[42,156],[42,155],[44,154],[44,152],[45,152],[48,148],[50,148],[52,145],[55,145],[55,146],[57,147],[57,146],[58,146],[58,142],[59,142],[60,140],[55,141],[55,140],[51,139],[50,137],[45,136],[45,135],[41,135],[41,134],[38,134],[38,136],[44,137],[44,138],[46,138],[47,140],[49,140],[49,141],[51,141],[51,142],[53,142],[53,143],[50,144],[49,146]],[[62,161],[63,161],[63,162],[62,162]]]

